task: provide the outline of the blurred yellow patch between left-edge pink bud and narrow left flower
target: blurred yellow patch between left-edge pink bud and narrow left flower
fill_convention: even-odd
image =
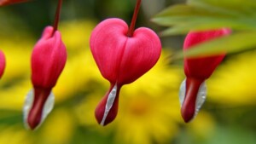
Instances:
[[[7,65],[0,82],[0,109],[21,110],[24,97],[32,88],[30,82],[31,52],[26,48],[31,47],[30,40],[27,39],[26,45],[14,45],[14,43],[3,41],[3,52],[6,55]],[[15,43],[19,43],[19,41]]]

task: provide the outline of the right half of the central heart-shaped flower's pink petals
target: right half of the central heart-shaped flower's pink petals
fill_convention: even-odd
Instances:
[[[119,84],[130,84],[148,72],[160,57],[159,37],[150,29],[138,28],[128,37],[119,67]]]

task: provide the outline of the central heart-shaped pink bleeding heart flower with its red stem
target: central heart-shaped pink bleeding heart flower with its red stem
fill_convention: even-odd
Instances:
[[[134,31],[137,7],[128,28],[124,20],[103,20],[90,36],[91,53],[102,76],[110,82],[110,89],[96,107],[96,120],[106,125],[118,112],[119,91],[148,72],[160,57],[160,38],[152,30],[140,27]]]

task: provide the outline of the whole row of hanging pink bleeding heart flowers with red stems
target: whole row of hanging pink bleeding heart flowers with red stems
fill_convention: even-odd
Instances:
[[[0,0],[0,6],[21,3],[26,0]],[[62,0],[58,1],[54,26],[46,26],[42,37],[32,49],[32,90],[26,96],[23,107],[24,123],[34,130],[44,122],[54,107],[52,89],[58,81],[67,61],[67,49],[58,31]],[[160,37],[147,27],[135,29],[141,0],[137,0],[131,25],[124,20],[110,18],[100,22],[90,35],[90,51],[102,77],[110,83],[110,89],[96,107],[98,124],[107,125],[116,118],[120,89],[131,84],[148,72],[160,58]],[[217,37],[230,34],[230,29],[221,28],[202,32],[189,32],[184,40],[183,51]],[[184,122],[195,118],[206,100],[207,78],[224,59],[225,54],[184,58],[186,78],[180,87],[179,100]],[[6,60],[0,50],[0,78]]]

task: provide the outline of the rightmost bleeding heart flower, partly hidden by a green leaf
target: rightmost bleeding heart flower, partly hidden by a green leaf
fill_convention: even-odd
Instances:
[[[189,32],[183,44],[183,50],[192,48],[195,44],[223,37],[230,34],[230,29],[222,28],[205,32]],[[184,58],[184,72],[186,79],[180,88],[180,104],[184,122],[189,122],[194,118],[206,100],[207,78],[218,64],[224,59],[225,54],[204,56],[199,58]]]

